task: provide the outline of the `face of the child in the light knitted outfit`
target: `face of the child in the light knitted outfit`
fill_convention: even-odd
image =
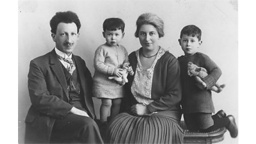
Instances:
[[[109,46],[116,46],[121,42],[121,39],[124,37],[121,29],[117,30],[106,30],[103,31],[103,37],[106,38],[107,44]]]

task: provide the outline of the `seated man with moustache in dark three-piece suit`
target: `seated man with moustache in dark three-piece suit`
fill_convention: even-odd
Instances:
[[[72,53],[81,23],[67,11],[57,12],[50,26],[54,49],[30,61],[25,143],[103,143],[93,120],[91,73]]]

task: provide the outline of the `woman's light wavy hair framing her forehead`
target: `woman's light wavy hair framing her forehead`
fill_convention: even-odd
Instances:
[[[135,37],[139,37],[139,30],[142,25],[152,25],[156,28],[159,37],[164,36],[164,21],[153,13],[143,13],[136,21],[137,29]]]

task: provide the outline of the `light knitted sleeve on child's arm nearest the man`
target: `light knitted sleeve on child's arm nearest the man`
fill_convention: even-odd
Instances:
[[[94,55],[94,68],[102,74],[113,75],[115,68],[106,65],[106,54],[106,51],[104,51],[104,49],[99,46]]]

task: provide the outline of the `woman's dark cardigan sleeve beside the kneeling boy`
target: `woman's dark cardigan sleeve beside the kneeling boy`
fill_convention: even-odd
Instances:
[[[163,89],[164,94],[154,102],[151,102],[147,108],[153,113],[155,111],[162,111],[168,109],[176,109],[180,107],[181,101],[181,83],[180,83],[180,66],[179,62],[176,58],[170,59],[167,62],[167,72],[166,75],[162,75],[166,77],[165,87],[159,88]],[[161,81],[161,80],[158,80]],[[163,83],[163,82],[159,82]]]

